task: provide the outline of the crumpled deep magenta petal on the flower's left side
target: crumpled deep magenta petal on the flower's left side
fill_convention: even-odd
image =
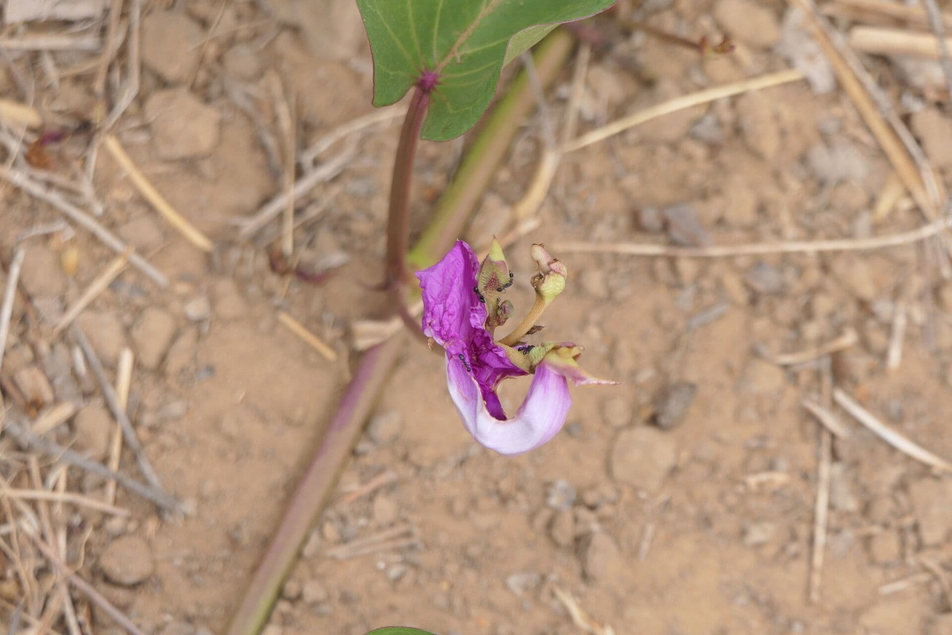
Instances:
[[[477,271],[476,254],[458,240],[443,260],[416,273],[423,289],[423,332],[453,355],[463,352],[462,342],[486,322],[486,307],[473,291]]]

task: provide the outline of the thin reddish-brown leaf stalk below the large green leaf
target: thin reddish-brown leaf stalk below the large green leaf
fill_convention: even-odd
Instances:
[[[387,216],[387,287],[396,290],[406,282],[407,251],[410,246],[410,182],[413,159],[420,142],[420,129],[429,108],[429,91],[421,84],[413,89],[413,97],[400,130],[400,143],[393,162],[390,182],[390,210]]]

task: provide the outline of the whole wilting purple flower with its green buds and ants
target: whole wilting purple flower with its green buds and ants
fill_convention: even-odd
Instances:
[[[493,331],[511,314],[500,294],[512,286],[503,249],[493,241],[482,266],[463,241],[436,265],[417,271],[423,289],[423,332],[446,349],[449,396],[463,425],[477,442],[502,454],[521,454],[542,446],[565,425],[576,386],[617,384],[592,377],[576,360],[583,348],[572,343],[526,344],[538,332],[545,308],[565,289],[568,270],[542,245],[533,245],[539,273],[531,279],[536,298],[526,319],[506,337]],[[504,282],[505,281],[505,282]],[[497,389],[510,377],[532,375],[522,407],[511,418]]]

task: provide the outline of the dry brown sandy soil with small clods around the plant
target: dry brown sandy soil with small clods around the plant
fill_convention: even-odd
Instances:
[[[655,27],[714,40],[730,32],[737,50],[703,59],[596,22],[608,48],[588,68],[582,129],[787,68],[784,51],[807,47],[780,3],[652,4],[645,15]],[[128,268],[78,324],[109,377],[120,351],[134,352],[134,425],[165,485],[195,513],[162,518],[120,487],[116,504],[129,518],[82,506],[55,518],[67,528],[69,562],[135,624],[191,635],[227,625],[346,386],[357,357],[353,321],[387,316],[386,297],[369,288],[381,278],[398,120],[321,155],[319,164],[343,167],[300,203],[302,211],[324,209],[297,233],[300,267],[340,267],[319,285],[278,275],[267,249],[239,242],[235,228],[282,188],[280,156],[267,151],[268,141],[280,143],[272,89],[280,83],[296,95],[302,149],[371,111],[357,11],[345,0],[235,1],[218,19],[218,2],[162,5],[144,18],[142,87],[116,133],[215,248],[206,254],[169,228],[101,151],[98,220],[147,254],[170,285],[157,288]],[[217,35],[206,46],[211,29]],[[95,109],[93,73],[62,71],[84,59],[88,53],[51,56],[60,71],[53,82],[40,55],[18,54],[0,71],[0,94],[22,100],[19,74],[55,126],[76,126]],[[952,124],[942,91],[928,83],[934,69],[882,58],[870,68],[947,175]],[[566,68],[549,95],[559,121],[570,83]],[[921,214],[903,196],[878,208],[889,164],[843,91],[819,88],[796,82],[721,100],[565,157],[542,227],[506,249],[517,313],[531,303],[532,242],[731,245],[919,227]],[[88,143],[77,132],[50,146],[49,170],[76,177]],[[465,146],[422,145],[417,223]],[[534,118],[467,229],[471,241],[511,222],[509,206],[540,148]],[[89,208],[82,194],[75,198]],[[7,186],[0,205],[5,258],[18,231],[61,218]],[[8,406],[12,385],[35,408],[30,416],[75,404],[78,414],[49,438],[105,461],[109,411],[91,376],[71,370],[69,338],[50,337],[50,325],[114,254],[89,233],[72,233],[19,244],[35,314],[17,304],[0,378]],[[476,446],[461,427],[441,356],[408,343],[268,635],[360,635],[390,624],[445,635],[583,632],[557,589],[616,633],[952,632],[945,568],[952,481],[843,409],[834,413],[849,434],[832,442],[822,583],[818,602],[808,601],[821,427],[802,401],[819,398],[824,366],[809,354],[792,366],[770,361],[855,332],[856,343],[832,356],[835,386],[885,425],[952,456],[952,286],[935,266],[938,251],[918,244],[712,260],[554,255],[570,280],[545,332],[585,345],[585,366],[623,386],[574,390],[565,431],[506,458]],[[330,343],[338,360],[304,345],[278,322],[279,311]],[[887,369],[890,345],[902,347],[901,357]],[[506,386],[508,409],[518,407],[526,383]],[[0,438],[0,473],[14,486],[30,487],[28,458]],[[39,467],[47,476],[56,464],[41,455]],[[121,470],[138,476],[128,451]],[[385,485],[346,498],[375,479]],[[97,499],[106,487],[75,468],[66,485]],[[335,547],[393,527],[415,540],[333,557]],[[17,546],[7,533],[3,540],[10,552],[0,555],[0,623],[10,624],[24,598],[38,618],[55,577],[44,562],[27,563],[38,581],[28,594],[10,553],[29,543],[21,537]],[[118,632],[81,594],[73,598],[84,633]],[[67,632],[58,617],[53,626]],[[29,622],[21,627],[35,632]]]

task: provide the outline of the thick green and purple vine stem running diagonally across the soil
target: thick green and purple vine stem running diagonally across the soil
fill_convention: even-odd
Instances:
[[[551,83],[564,66],[571,44],[571,36],[556,29],[538,47],[534,59],[536,72],[544,86]],[[412,263],[415,266],[431,265],[452,247],[534,103],[532,89],[525,73],[521,73],[493,110],[489,123],[480,131],[463,167],[441,198],[432,226],[413,249]],[[481,168],[479,164],[483,161],[490,162],[491,167]],[[271,608],[294,566],[307,533],[324,510],[327,498],[337,485],[337,477],[360,438],[367,416],[386,384],[390,370],[396,366],[403,339],[400,335],[391,337],[361,357],[317,454],[295,490],[288,510],[228,625],[228,635],[258,635],[268,622]]]

